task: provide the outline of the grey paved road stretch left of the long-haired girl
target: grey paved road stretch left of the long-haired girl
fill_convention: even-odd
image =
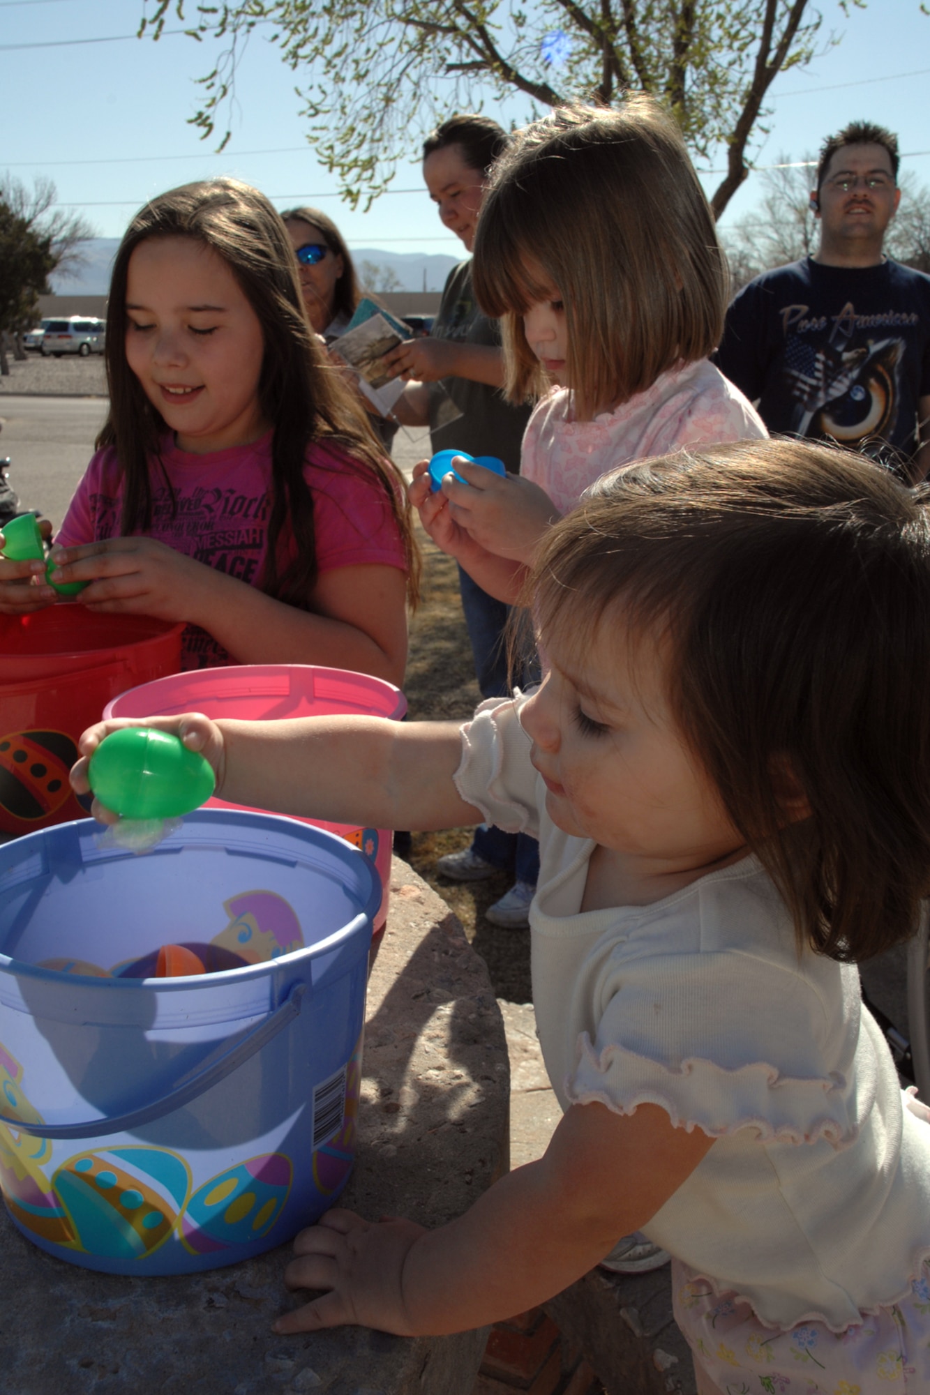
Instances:
[[[10,483],[24,508],[57,527],[94,455],[106,418],[105,398],[0,398],[0,455],[13,460]]]

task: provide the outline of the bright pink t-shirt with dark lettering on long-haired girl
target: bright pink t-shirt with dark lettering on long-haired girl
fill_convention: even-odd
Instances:
[[[152,467],[152,527],[148,536],[207,566],[258,586],[271,515],[271,441],[268,431],[250,445],[209,455],[162,446],[165,474]],[[303,467],[313,491],[317,566],[406,568],[404,541],[381,481],[360,462],[330,445],[311,445]],[[172,499],[172,490],[175,499]],[[98,451],[74,491],[56,543],[77,547],[120,536],[123,474],[116,451]],[[279,568],[295,551],[282,540]],[[281,654],[281,661],[288,661]],[[184,631],[183,668],[212,668],[236,660],[197,625]]]

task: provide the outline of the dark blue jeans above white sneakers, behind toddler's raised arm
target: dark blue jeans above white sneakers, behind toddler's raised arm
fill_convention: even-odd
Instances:
[[[480,695],[482,698],[504,698],[510,692],[505,638],[510,605],[483,591],[461,566],[458,585]],[[536,838],[531,838],[526,833],[504,833],[503,829],[482,823],[475,829],[472,848],[479,858],[493,862],[496,868],[508,869],[512,866],[518,882],[536,886],[539,879],[539,844]]]

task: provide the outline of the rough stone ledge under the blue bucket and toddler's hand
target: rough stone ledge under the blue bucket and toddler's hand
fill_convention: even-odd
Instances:
[[[398,859],[366,1016],[359,1161],[342,1204],[441,1225],[507,1170],[510,1071],[483,960]],[[487,1329],[275,1336],[292,1306],[289,1254],[113,1276],[46,1256],[0,1209],[3,1395],[468,1395]]]

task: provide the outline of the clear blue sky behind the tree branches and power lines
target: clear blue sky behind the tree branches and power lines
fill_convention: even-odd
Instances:
[[[866,117],[898,133],[908,155],[903,170],[930,184],[930,17],[920,14],[917,0],[870,0],[848,17],[834,0],[822,10],[824,40],[834,32],[841,42],[803,73],[775,81],[771,133],[757,162],[797,160],[815,151],[824,134]],[[50,176],[59,199],[80,205],[102,237],[120,236],[131,212],[161,190],[232,173],[263,188],[279,208],[320,201],[350,246],[461,251],[458,239],[433,218],[416,160],[398,170],[395,193],[369,213],[331,197],[335,179],[314,160],[297,114],[297,80],[263,38],[251,39],[242,63],[233,135],[219,156],[187,124],[198,105],[194,80],[212,66],[214,46],[184,35],[159,43],[127,38],[53,46],[133,35],[140,14],[141,0],[0,0],[0,170],[27,184],[36,174]],[[179,24],[172,18],[166,28]],[[521,117],[518,102],[508,106],[510,114]],[[705,179],[708,191],[716,181]],[[748,212],[760,193],[758,176],[750,176],[723,226]]]

